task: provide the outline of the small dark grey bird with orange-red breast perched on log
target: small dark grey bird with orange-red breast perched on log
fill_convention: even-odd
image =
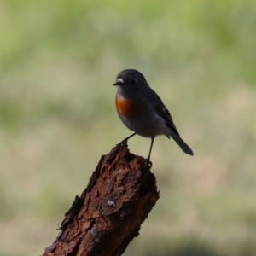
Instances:
[[[119,145],[136,134],[150,137],[151,144],[147,160],[150,160],[154,137],[166,135],[172,137],[184,153],[193,155],[193,151],[179,136],[173,124],[172,116],[154,90],[152,90],[142,73],[136,69],[121,71],[113,84],[118,86],[115,98],[117,113],[122,122],[134,131]]]

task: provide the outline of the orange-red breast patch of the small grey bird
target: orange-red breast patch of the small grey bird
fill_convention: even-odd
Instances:
[[[132,119],[139,112],[138,102],[127,100],[125,97],[116,95],[115,104],[117,112],[119,113],[120,118]]]

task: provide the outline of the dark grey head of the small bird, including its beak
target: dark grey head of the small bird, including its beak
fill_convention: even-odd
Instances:
[[[125,69],[121,71],[113,85],[118,85],[122,90],[140,90],[143,87],[148,87],[147,80],[142,73],[136,69]]]

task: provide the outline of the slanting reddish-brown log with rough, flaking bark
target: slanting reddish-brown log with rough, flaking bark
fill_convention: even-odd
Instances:
[[[102,155],[43,256],[119,256],[139,235],[159,194],[148,162],[126,145]]]

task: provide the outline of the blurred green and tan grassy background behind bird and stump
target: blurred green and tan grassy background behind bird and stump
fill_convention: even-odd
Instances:
[[[42,254],[131,134],[112,86],[125,68],[195,152],[156,139],[160,200],[125,255],[256,255],[255,1],[2,0],[0,31],[0,255]]]

